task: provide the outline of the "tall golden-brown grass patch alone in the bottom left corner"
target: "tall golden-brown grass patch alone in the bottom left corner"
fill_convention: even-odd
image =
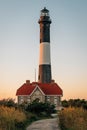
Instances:
[[[23,127],[25,120],[26,116],[22,111],[0,106],[0,130],[20,129]]]

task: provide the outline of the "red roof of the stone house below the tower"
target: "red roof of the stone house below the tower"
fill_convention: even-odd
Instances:
[[[25,83],[18,90],[16,95],[30,95],[36,87],[39,87],[45,95],[62,95],[62,89],[56,83]]]

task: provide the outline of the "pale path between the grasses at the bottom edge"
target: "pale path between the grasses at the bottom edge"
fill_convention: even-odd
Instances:
[[[39,120],[32,123],[26,130],[60,130],[57,118]]]

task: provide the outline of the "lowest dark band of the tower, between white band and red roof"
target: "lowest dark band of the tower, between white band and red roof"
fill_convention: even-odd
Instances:
[[[38,81],[40,83],[51,82],[51,65],[39,65]]]

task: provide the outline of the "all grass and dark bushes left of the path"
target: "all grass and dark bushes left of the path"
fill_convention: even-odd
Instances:
[[[38,100],[18,105],[13,99],[0,100],[0,130],[25,130],[31,122],[51,117],[55,106]]]

